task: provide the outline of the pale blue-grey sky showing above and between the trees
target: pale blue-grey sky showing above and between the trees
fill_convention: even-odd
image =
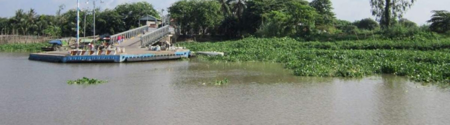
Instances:
[[[88,4],[85,3],[86,1],[79,0],[80,9],[93,7],[92,0]],[[101,9],[112,9],[125,2],[147,1],[155,9],[161,10],[166,9],[177,0],[103,0],[103,3],[99,1],[97,0],[96,6],[100,6]],[[333,11],[339,19],[354,21],[362,18],[375,18],[370,13],[369,0],[331,0],[331,2],[334,7]],[[20,8],[24,11],[34,8],[38,14],[54,14],[61,4],[66,6],[65,10],[76,8],[76,0],[0,0],[0,3],[0,17],[13,16],[15,10]],[[432,14],[431,10],[450,11],[450,0],[417,0],[403,17],[417,24],[425,24]]]

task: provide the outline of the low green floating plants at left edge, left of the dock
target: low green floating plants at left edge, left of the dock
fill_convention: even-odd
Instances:
[[[40,51],[40,47],[51,46],[49,43],[7,43],[0,44],[0,51]]]

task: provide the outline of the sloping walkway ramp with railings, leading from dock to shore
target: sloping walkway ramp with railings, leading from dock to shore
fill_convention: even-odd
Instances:
[[[120,32],[114,35],[111,35],[112,43],[117,42],[117,36],[124,36],[124,40],[118,44],[120,47],[144,47],[151,45],[168,34],[173,32],[173,28],[170,28],[169,25],[159,27],[159,28],[150,28],[147,25],[137,27],[134,29],[130,29],[124,32]]]

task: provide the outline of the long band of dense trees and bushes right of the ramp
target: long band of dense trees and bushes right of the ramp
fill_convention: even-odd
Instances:
[[[443,21],[433,23],[429,28],[428,25],[419,27],[401,18],[415,1],[370,0],[372,14],[380,24],[371,18],[354,22],[337,19],[330,0],[180,0],[169,7],[169,12],[176,21],[175,25],[181,28],[181,33],[188,37],[197,34],[224,35],[228,38],[288,36],[301,41],[338,41],[436,39],[440,36],[435,36],[431,31],[444,34],[445,31],[430,29],[445,28],[446,20],[442,19],[445,14],[433,16],[433,20]],[[209,2],[215,4],[209,5]],[[213,11],[207,13],[215,15],[198,20],[196,13],[201,13],[198,8],[205,5],[213,6]],[[208,20],[219,23],[199,25]]]

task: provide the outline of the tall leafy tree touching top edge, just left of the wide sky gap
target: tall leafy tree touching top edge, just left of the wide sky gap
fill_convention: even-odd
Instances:
[[[334,17],[334,12],[332,9],[331,1],[330,0],[312,0],[309,2],[309,5],[315,8],[317,13],[321,16],[317,18],[316,24],[317,25],[327,25],[332,23]]]

